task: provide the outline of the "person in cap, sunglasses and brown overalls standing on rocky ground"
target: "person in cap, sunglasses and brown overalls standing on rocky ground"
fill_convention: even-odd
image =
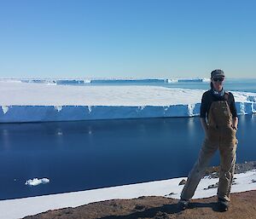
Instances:
[[[205,140],[199,157],[189,172],[183,187],[178,207],[184,210],[189,206],[195,189],[205,175],[212,155],[219,150],[220,171],[218,182],[218,209],[229,209],[230,187],[233,181],[236,163],[236,130],[238,118],[235,99],[232,93],[224,90],[224,72],[216,69],[211,72],[211,89],[201,98],[201,125],[205,131]]]

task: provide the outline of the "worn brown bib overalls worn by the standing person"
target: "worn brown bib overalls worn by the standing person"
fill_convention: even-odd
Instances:
[[[188,181],[183,187],[181,199],[189,200],[204,176],[213,153],[219,149],[220,173],[218,182],[218,198],[230,201],[236,163],[236,130],[231,127],[232,114],[227,101],[213,101],[208,112],[207,136],[201,147],[199,158],[189,172]]]

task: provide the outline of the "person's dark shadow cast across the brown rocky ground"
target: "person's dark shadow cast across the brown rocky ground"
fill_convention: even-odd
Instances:
[[[218,211],[217,204],[215,202],[211,203],[189,203],[188,209],[195,209],[195,208],[212,208],[213,211]],[[154,217],[154,216],[164,216],[169,214],[181,214],[183,210],[179,210],[177,204],[171,205],[162,205],[160,207],[150,208],[150,209],[143,209],[141,207],[140,210],[137,210],[130,215],[125,216],[103,216],[98,219],[134,219],[138,217]]]

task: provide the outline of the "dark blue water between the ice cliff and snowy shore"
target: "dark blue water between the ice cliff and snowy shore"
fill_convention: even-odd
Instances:
[[[239,119],[237,161],[256,160],[256,117]],[[0,199],[187,176],[202,140],[200,118],[0,124]]]

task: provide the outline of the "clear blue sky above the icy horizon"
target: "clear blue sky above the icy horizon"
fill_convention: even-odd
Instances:
[[[256,1],[0,0],[0,78],[255,78]]]

